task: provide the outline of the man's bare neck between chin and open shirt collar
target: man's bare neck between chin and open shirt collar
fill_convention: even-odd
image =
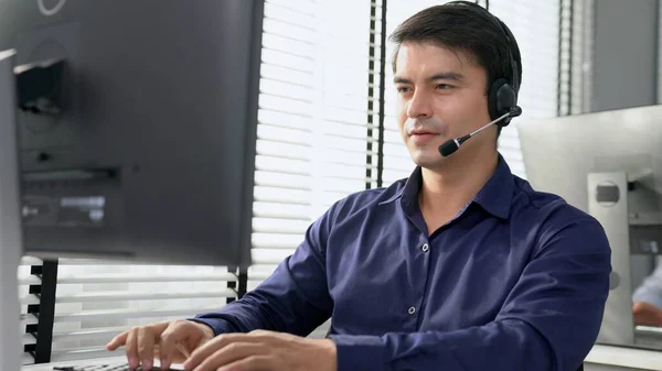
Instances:
[[[419,204],[424,216],[459,212],[494,174],[499,156],[492,151],[461,160],[449,161],[439,170],[423,168]]]

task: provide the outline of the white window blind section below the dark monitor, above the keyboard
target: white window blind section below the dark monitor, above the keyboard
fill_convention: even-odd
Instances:
[[[51,361],[111,357],[105,350],[132,326],[222,308],[237,293],[226,268],[135,265],[61,259]]]

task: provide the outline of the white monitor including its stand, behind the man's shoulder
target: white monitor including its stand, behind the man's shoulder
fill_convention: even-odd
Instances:
[[[662,106],[517,124],[526,177],[601,222],[612,275],[599,343],[662,348],[634,326],[632,293],[662,253]]]

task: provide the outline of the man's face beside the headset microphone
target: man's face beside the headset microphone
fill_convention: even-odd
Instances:
[[[461,52],[431,43],[403,43],[394,83],[401,133],[412,160],[421,167],[439,167],[448,161],[439,154],[439,145],[491,121],[485,70]],[[492,126],[448,159],[473,156],[485,145],[493,149],[495,135]]]

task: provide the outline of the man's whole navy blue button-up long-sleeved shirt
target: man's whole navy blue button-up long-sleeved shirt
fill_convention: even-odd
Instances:
[[[199,315],[216,334],[307,336],[331,318],[338,370],[575,370],[597,338],[610,249],[592,217],[535,192],[500,156],[427,232],[421,175],[334,204],[242,299]]]

